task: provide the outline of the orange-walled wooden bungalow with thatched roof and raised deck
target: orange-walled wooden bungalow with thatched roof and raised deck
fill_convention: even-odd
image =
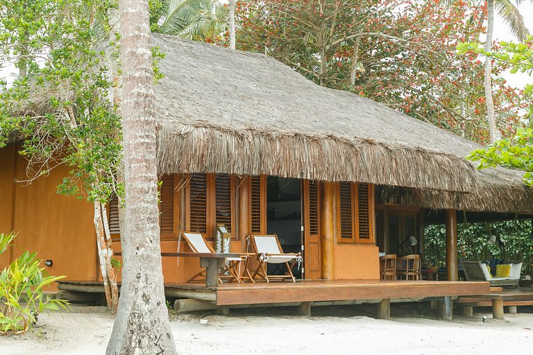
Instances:
[[[157,35],[165,78],[156,87],[162,252],[178,250],[180,230],[213,241],[217,224],[246,251],[249,234],[279,236],[303,252],[296,284],[183,284],[198,259],[164,258],[169,295],[215,305],[378,302],[477,295],[488,283],[458,282],[457,216],[533,214],[521,173],[476,171],[465,157],[479,145],[350,92],[315,85],[266,55],[232,53]],[[45,98],[31,110],[47,110]],[[22,250],[53,261],[73,291],[99,281],[92,206],[60,196],[66,168],[24,186],[26,162],[12,144],[0,150],[0,232]],[[117,202],[110,230],[119,251]],[[447,282],[382,282],[379,252],[405,252],[430,216],[446,222]],[[181,241],[180,250],[187,251]],[[388,301],[387,301],[388,302]],[[385,304],[387,304],[385,302]]]

